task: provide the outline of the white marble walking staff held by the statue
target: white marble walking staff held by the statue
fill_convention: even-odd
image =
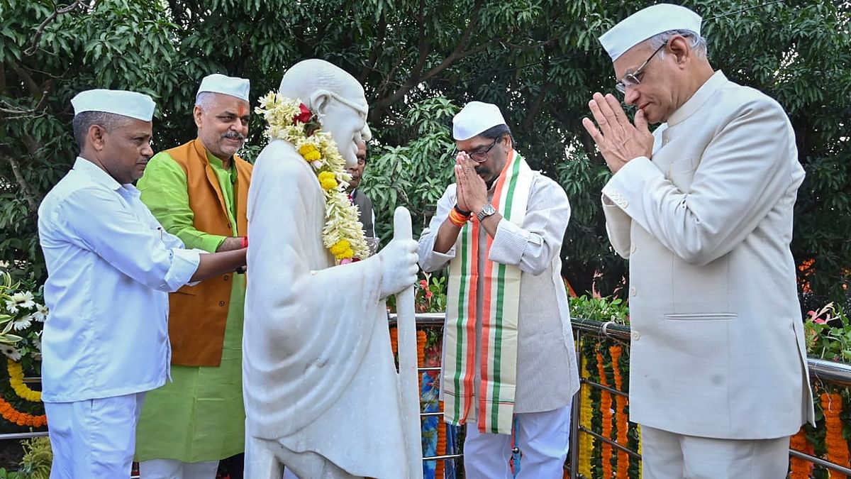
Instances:
[[[411,215],[404,206],[393,213],[393,238],[410,240]],[[402,426],[408,448],[408,477],[422,479],[422,438],[420,424],[420,373],[417,371],[417,320],[414,315],[414,286],[396,295],[397,341],[399,350],[399,393],[402,395]]]

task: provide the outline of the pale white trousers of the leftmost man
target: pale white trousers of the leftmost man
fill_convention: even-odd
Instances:
[[[129,478],[143,401],[145,393],[45,402],[54,454],[50,479]]]

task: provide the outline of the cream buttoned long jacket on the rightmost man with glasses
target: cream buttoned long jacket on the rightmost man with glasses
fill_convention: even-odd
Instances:
[[[770,439],[813,419],[792,211],[804,172],[780,105],[715,73],[603,188],[630,260],[630,419]]]

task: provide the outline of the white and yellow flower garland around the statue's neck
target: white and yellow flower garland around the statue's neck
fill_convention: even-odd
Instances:
[[[264,135],[292,143],[316,173],[325,193],[323,245],[340,264],[368,257],[369,247],[357,218],[357,207],[344,191],[351,180],[346,172],[346,160],[340,155],[334,137],[321,131],[317,115],[300,100],[274,91],[260,98],[260,107],[254,111],[266,119]]]

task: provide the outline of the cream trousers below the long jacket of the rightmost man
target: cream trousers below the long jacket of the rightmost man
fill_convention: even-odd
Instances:
[[[642,425],[644,479],[783,479],[789,437],[713,439]]]

